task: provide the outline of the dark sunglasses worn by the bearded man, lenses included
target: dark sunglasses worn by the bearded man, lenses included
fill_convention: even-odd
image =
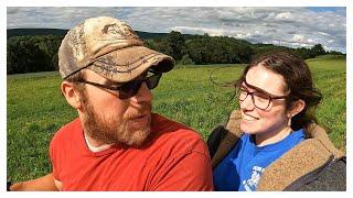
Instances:
[[[97,84],[97,82],[93,82],[93,81],[87,81],[84,79],[77,80],[77,82],[89,84],[89,85],[93,85],[93,86],[96,86],[99,88],[117,91],[119,99],[128,99],[128,98],[133,97],[139,91],[142,82],[146,82],[146,85],[149,89],[154,89],[158,86],[158,82],[162,76],[162,73],[152,72],[152,74],[153,75],[148,76],[145,79],[131,80],[131,81],[121,84],[119,86],[101,85],[101,84]]]

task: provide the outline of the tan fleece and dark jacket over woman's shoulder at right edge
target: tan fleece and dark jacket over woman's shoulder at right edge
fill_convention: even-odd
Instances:
[[[258,186],[259,190],[341,190],[345,188],[344,154],[334,147],[321,127],[315,125],[307,133],[308,138],[304,141],[266,168]],[[279,177],[285,178],[280,184],[276,183],[280,179]],[[336,186],[331,184],[331,178],[335,178]]]

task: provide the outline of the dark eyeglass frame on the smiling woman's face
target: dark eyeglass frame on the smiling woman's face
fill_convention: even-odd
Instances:
[[[243,87],[243,85],[242,85],[243,82],[244,82],[247,87],[249,87],[249,88],[252,88],[252,89],[255,89],[256,91],[250,92],[250,91],[248,91],[248,90],[245,90],[245,91],[246,91],[246,97],[244,98],[244,100],[240,100],[240,98],[239,98],[240,95],[237,97],[238,100],[239,100],[239,102],[245,101],[245,100],[247,99],[247,97],[250,95],[250,96],[252,96],[252,102],[253,102],[254,107],[256,107],[257,109],[267,110],[272,100],[276,100],[276,99],[287,99],[287,98],[289,98],[290,90],[289,90],[286,95],[284,95],[284,96],[276,96],[276,95],[272,95],[272,94],[270,94],[270,92],[267,92],[266,90],[264,90],[264,89],[261,89],[261,88],[258,88],[258,87],[255,87],[255,86],[252,86],[252,85],[247,84],[246,80],[243,80],[243,81],[239,84],[240,86],[239,86],[239,88],[238,88],[238,92],[239,92],[239,89],[242,89],[242,87]],[[245,88],[245,87],[244,87],[244,88]],[[246,88],[245,88],[245,89],[246,89]],[[255,98],[254,98],[254,94],[255,94],[255,92],[263,92],[263,94],[265,94],[265,95],[267,95],[267,96],[269,97],[269,100],[268,100],[268,103],[267,103],[267,107],[266,107],[266,108],[259,108],[259,107],[257,107],[257,106],[255,105]]]

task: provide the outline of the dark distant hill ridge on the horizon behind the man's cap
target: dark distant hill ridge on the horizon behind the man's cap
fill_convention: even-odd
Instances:
[[[22,36],[22,35],[58,35],[63,36],[66,34],[68,30],[63,29],[8,29],[7,37],[12,36]],[[136,33],[142,38],[157,38],[164,36],[168,33],[150,33],[150,32],[140,32],[136,31]]]

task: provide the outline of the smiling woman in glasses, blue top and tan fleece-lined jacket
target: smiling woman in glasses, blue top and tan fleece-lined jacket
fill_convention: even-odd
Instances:
[[[345,156],[315,124],[321,94],[302,59],[265,54],[235,87],[240,110],[207,141],[215,190],[345,190]]]

